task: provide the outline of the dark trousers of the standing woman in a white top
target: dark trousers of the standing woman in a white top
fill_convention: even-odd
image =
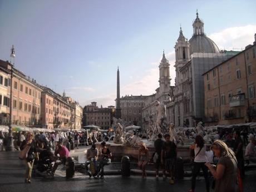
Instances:
[[[203,170],[204,179],[205,179],[205,183],[206,183],[206,190],[207,190],[207,192],[210,191],[208,168],[204,164],[205,164],[205,162],[204,163],[194,162],[194,168],[193,168],[193,174],[192,174],[192,186],[191,186],[191,189],[193,191],[195,190],[196,176],[198,176],[198,174],[200,173],[200,169]]]

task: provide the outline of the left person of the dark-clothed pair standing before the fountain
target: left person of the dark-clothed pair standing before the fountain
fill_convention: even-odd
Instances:
[[[158,134],[157,139],[154,142],[155,155],[154,155],[153,160],[154,160],[155,169],[156,169],[156,179],[159,178],[159,168],[160,168],[160,166],[163,166],[163,164],[161,164],[161,150],[162,150],[163,144],[164,144],[164,141],[163,141],[162,137],[163,137],[162,134]],[[163,178],[165,178],[164,166],[163,166]]]

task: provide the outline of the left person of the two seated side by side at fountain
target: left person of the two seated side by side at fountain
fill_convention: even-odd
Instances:
[[[85,169],[88,173],[89,177],[96,176],[97,175],[97,160],[99,156],[99,150],[96,148],[96,145],[93,143],[91,148],[87,150],[86,152],[86,163],[85,163]],[[90,171],[88,170],[88,165],[90,165]]]

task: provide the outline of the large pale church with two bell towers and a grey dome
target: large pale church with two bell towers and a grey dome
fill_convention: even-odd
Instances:
[[[204,23],[196,13],[193,22],[193,36],[186,39],[180,28],[175,48],[175,86],[170,85],[170,64],[163,58],[159,65],[159,88],[145,97],[142,108],[142,125],[149,127],[150,119],[156,120],[156,100],[166,103],[166,116],[175,126],[195,126],[204,120],[204,79],[203,73],[238,52],[220,51],[218,46],[205,35]]]

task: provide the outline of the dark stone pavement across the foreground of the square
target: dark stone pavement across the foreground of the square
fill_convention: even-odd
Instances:
[[[0,152],[0,191],[1,192],[29,192],[29,191],[188,191],[190,189],[190,178],[176,181],[174,185],[167,180],[153,177],[141,179],[140,176],[122,178],[120,175],[107,175],[105,179],[89,179],[88,176],[76,173],[72,179],[65,178],[65,170],[60,168],[56,171],[53,179],[45,178],[36,174],[32,176],[32,183],[24,183],[24,165],[17,157],[17,152]],[[255,192],[256,170],[247,171],[244,179],[244,191]],[[196,191],[205,191],[204,180],[196,181]]]

